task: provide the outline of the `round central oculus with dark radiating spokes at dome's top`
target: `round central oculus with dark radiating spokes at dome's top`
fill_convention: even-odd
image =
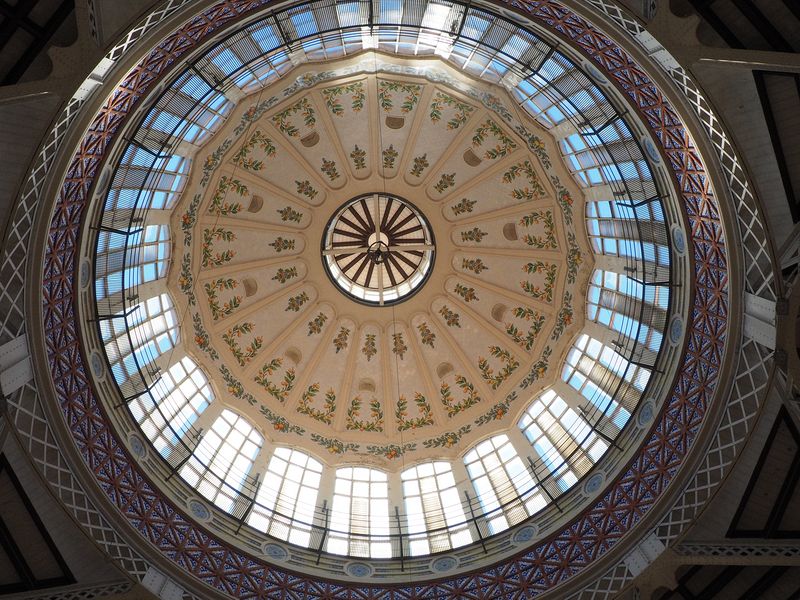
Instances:
[[[413,296],[433,269],[433,232],[419,209],[398,196],[366,194],[334,213],[322,239],[328,276],[364,304],[397,304]]]

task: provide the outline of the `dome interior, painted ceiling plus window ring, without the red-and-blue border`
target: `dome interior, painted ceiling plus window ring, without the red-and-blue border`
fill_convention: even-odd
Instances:
[[[379,43],[270,76],[280,51],[240,58],[256,21],[129,131],[96,237],[110,372],[193,501],[264,543],[475,551],[599,486],[673,371],[660,159],[500,22],[488,65]]]

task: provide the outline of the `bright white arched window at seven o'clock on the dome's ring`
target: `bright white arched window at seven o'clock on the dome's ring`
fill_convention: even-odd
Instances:
[[[247,522],[272,536],[308,546],[322,463],[291,448],[275,448]]]

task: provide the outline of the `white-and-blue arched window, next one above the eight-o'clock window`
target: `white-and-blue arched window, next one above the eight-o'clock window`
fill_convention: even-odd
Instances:
[[[178,320],[169,294],[140,302],[127,315],[115,315],[100,326],[111,371],[120,386],[178,343]]]

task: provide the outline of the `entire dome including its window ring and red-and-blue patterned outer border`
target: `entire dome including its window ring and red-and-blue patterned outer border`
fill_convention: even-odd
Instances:
[[[223,4],[109,92],[51,226],[68,421],[124,518],[223,591],[218,550],[254,587],[436,594],[633,543],[726,339],[723,217],[659,66],[550,2]]]

